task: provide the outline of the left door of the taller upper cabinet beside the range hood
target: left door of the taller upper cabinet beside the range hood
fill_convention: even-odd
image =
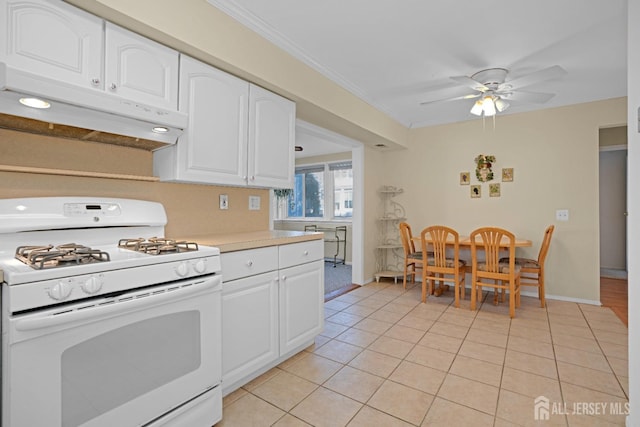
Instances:
[[[189,127],[176,147],[179,178],[245,186],[249,83],[185,56],[181,64]]]

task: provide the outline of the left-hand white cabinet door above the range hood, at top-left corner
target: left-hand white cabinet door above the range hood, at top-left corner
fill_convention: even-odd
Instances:
[[[0,0],[0,62],[101,89],[102,22],[61,1]]]

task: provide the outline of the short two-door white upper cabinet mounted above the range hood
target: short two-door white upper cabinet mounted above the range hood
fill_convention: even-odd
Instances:
[[[0,0],[0,62],[156,108],[178,107],[179,53],[61,1]]]

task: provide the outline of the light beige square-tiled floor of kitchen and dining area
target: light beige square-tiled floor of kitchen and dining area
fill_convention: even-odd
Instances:
[[[419,286],[381,282],[325,319],[313,346],[226,396],[218,426],[625,424],[627,327],[608,308],[522,297],[510,319],[486,295],[474,312],[468,293],[421,304]]]

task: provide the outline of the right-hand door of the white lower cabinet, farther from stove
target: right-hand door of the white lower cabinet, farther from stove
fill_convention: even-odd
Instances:
[[[324,327],[324,262],[280,270],[280,354],[313,341]]]

